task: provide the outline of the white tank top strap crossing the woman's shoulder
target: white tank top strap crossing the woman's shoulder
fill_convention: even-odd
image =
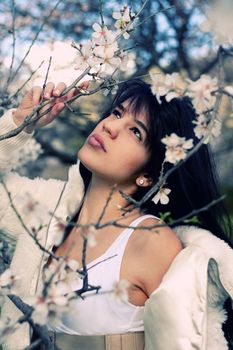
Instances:
[[[137,219],[133,220],[129,224],[129,226],[133,226],[133,227],[127,227],[125,230],[123,230],[121,232],[121,234],[117,237],[117,239],[113,242],[110,249],[108,250],[108,254],[109,253],[116,253],[116,252],[118,254],[120,254],[120,252],[124,253],[127,242],[129,240],[130,236],[132,235],[132,233],[134,232],[134,228],[137,227],[141,221],[143,221],[147,218],[150,218],[150,217],[161,220],[160,218],[158,218],[157,216],[152,215],[152,214],[145,214],[145,215],[142,215],[142,216],[138,217]]]

